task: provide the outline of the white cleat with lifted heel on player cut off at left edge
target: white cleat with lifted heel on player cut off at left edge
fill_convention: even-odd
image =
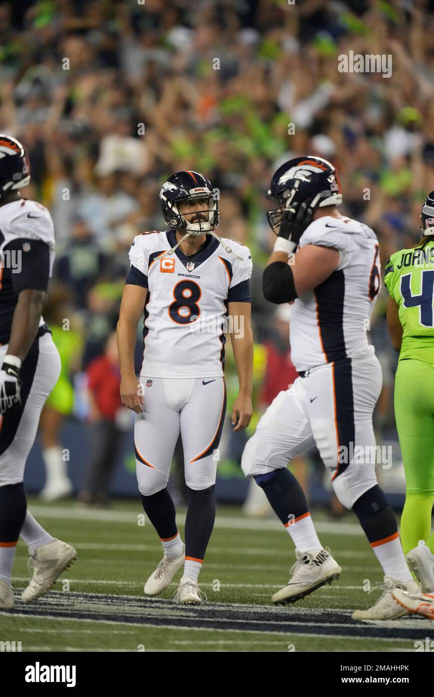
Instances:
[[[43,595],[76,559],[77,552],[74,547],[60,539],[37,547],[30,555],[29,569],[33,565],[33,576],[22,592],[22,601],[30,603]]]

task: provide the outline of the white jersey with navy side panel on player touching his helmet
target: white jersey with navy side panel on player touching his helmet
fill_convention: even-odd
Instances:
[[[373,354],[366,331],[381,286],[375,233],[357,220],[327,215],[304,231],[300,247],[305,245],[333,247],[339,251],[339,265],[323,283],[294,301],[290,346],[295,368],[300,372]]]

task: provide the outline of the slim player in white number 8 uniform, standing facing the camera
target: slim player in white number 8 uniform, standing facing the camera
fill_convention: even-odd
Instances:
[[[169,230],[142,233],[130,250],[118,321],[121,397],[137,413],[137,482],[164,551],[144,592],[158,595],[184,567],[176,600],[199,604],[197,579],[214,525],[218,447],[226,412],[226,318],[240,383],[232,411],[234,430],[245,429],[252,414],[251,256],[244,245],[215,233],[218,203],[202,174],[180,171],[169,177],[160,192],[160,207]],[[133,358],[142,312],[144,359],[138,386]],[[185,546],[166,488],[179,434],[189,493]]]

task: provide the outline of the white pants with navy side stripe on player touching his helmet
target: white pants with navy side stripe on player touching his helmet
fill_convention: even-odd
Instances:
[[[241,461],[245,475],[284,468],[316,445],[336,496],[352,508],[377,483],[372,415],[381,386],[375,355],[345,358],[297,377],[275,397],[247,441]]]

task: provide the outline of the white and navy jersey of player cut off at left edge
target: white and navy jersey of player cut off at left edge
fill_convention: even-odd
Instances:
[[[19,199],[0,206],[0,343],[8,342],[17,296],[13,291],[15,253],[8,245],[24,240],[22,254],[31,254],[31,240],[39,240],[49,247],[49,275],[54,264],[54,225],[49,210],[29,199]],[[16,260],[17,261],[17,260]],[[41,317],[39,326],[44,325]]]

